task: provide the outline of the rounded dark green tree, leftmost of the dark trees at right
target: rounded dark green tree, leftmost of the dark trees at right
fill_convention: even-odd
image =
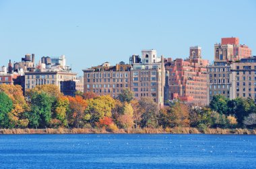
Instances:
[[[221,114],[228,113],[228,99],[223,95],[215,95],[210,102],[210,108]]]

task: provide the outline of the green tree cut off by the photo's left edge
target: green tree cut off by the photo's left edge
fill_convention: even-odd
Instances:
[[[11,99],[3,92],[0,92],[0,127],[9,128],[10,125],[9,113],[13,109]]]

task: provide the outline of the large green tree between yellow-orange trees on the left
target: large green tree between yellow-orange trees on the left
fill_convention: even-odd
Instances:
[[[55,97],[47,93],[32,93],[31,95],[31,111],[28,115],[30,127],[48,127],[51,123],[53,103]]]

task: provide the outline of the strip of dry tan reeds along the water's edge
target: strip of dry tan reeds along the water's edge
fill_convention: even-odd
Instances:
[[[153,129],[153,128],[143,128],[143,129],[95,129],[95,128],[47,128],[47,129],[0,129],[1,134],[76,134],[76,133],[172,133],[172,134],[250,134],[256,135],[256,129],[221,129],[221,128],[206,128],[203,131],[199,131],[197,128],[193,127],[174,127],[167,129]]]

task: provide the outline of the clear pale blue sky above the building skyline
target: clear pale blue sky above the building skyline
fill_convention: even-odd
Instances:
[[[187,58],[202,47],[213,60],[214,44],[238,37],[256,55],[256,1],[3,1],[0,0],[0,65],[34,53],[65,54],[82,69],[129,62],[142,49]]]

